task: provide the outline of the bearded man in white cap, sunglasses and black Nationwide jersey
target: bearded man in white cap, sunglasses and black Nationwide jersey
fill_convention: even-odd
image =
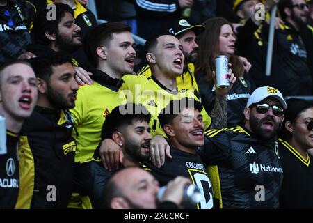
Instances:
[[[202,160],[209,164],[220,208],[279,207],[282,165],[276,136],[284,109],[280,91],[259,87],[243,111],[244,125],[206,132]]]

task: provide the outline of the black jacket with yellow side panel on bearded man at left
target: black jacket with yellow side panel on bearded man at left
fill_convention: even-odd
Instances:
[[[72,195],[74,153],[73,120],[70,112],[35,107],[21,131],[19,208],[66,208]],[[49,194],[55,186],[56,201]],[[50,197],[52,201],[47,201]],[[31,203],[30,203],[31,201]],[[30,205],[30,206],[29,206]]]

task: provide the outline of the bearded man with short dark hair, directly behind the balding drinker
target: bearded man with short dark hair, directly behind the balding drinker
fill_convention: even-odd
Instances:
[[[125,114],[123,111],[127,111],[127,113]],[[143,105],[134,103],[115,107],[106,116],[101,137],[102,139],[112,139],[123,151],[124,157],[120,160],[118,170],[125,167],[139,167],[140,162],[149,159],[152,139],[149,126],[150,117],[150,113]],[[90,201],[93,209],[104,208],[104,186],[107,178],[112,176],[115,171],[109,171],[103,167],[97,149],[91,162],[90,172],[92,182]]]

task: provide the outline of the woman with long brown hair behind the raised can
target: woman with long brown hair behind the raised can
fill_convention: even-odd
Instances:
[[[216,91],[215,59],[220,55],[227,56],[237,79],[227,95],[227,126],[232,127],[242,120],[242,111],[255,87],[245,71],[243,59],[234,55],[236,38],[232,24],[222,17],[214,17],[202,25],[206,29],[197,38],[199,49],[198,63],[196,63],[196,76],[202,104],[204,109],[211,113],[215,100],[214,91]]]

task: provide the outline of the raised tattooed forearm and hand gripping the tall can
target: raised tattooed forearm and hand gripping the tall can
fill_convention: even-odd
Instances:
[[[227,100],[226,95],[232,89],[232,85],[236,82],[236,77],[232,73],[232,69],[228,71],[230,75],[230,86],[227,89],[216,88],[214,107],[211,111],[211,129],[221,129],[227,127]],[[213,72],[215,79],[215,72]]]

